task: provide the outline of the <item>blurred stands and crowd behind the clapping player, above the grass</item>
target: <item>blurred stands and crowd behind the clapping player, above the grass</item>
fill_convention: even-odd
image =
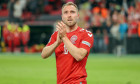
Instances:
[[[1,0],[1,52],[41,52],[66,2],[94,34],[91,53],[140,53],[140,0]]]

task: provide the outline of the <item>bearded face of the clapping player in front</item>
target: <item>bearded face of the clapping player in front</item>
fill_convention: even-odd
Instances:
[[[65,6],[62,9],[62,21],[69,27],[74,26],[78,20],[77,9],[73,5]]]

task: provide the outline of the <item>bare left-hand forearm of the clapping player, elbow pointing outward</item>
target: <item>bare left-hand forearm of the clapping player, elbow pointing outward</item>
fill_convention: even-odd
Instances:
[[[52,53],[57,48],[57,46],[58,46],[57,42],[54,42],[52,45],[44,47],[41,53],[42,58],[45,59],[51,56]]]

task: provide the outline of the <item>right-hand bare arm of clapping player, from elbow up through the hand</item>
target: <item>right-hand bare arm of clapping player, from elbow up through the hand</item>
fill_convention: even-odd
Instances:
[[[60,33],[59,36],[62,39],[64,45],[66,46],[69,53],[77,60],[81,61],[86,55],[87,50],[84,48],[77,48],[71,43],[71,41],[66,36],[66,26],[63,22],[59,22],[57,25],[57,30]]]

